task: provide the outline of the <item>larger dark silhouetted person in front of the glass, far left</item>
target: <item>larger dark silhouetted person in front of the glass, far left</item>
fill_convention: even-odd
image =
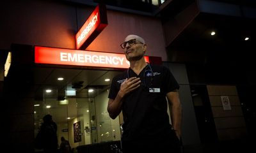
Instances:
[[[52,115],[47,114],[40,126],[40,143],[45,153],[58,152],[57,124],[52,120]]]

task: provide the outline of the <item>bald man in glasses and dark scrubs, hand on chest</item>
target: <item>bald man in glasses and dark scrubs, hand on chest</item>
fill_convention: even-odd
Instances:
[[[121,47],[130,68],[113,78],[108,112],[112,119],[123,113],[123,152],[180,152],[179,84],[168,68],[145,62],[147,45],[140,36],[130,34]]]

